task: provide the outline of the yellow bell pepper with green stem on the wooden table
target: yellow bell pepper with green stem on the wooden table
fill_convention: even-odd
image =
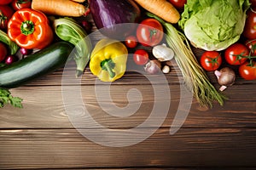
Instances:
[[[90,56],[90,71],[102,82],[113,82],[123,77],[128,50],[122,42],[104,38],[96,43]]]

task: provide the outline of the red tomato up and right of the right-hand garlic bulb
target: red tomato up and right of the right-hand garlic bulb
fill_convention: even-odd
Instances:
[[[236,42],[230,45],[229,48],[226,48],[224,57],[230,65],[241,65],[246,62],[247,58],[244,56],[247,56],[248,54],[249,50],[247,46]]]

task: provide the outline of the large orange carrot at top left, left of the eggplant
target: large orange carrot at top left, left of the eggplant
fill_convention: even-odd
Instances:
[[[79,17],[88,13],[88,9],[70,0],[32,0],[32,9],[60,16]]]

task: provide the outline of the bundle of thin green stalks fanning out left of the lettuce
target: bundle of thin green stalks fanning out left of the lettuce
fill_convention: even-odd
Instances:
[[[190,48],[189,41],[181,31],[154,14],[147,13],[149,17],[159,20],[166,28],[166,42],[175,53],[174,59],[182,71],[184,84],[191,92],[200,105],[212,108],[212,102],[218,101],[219,105],[224,105],[227,99],[224,94],[218,92],[212,85],[207,73],[201,68],[195,54]]]

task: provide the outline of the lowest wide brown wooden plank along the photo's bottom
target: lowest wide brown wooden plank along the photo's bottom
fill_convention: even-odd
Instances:
[[[6,129],[0,131],[0,168],[255,167],[255,134],[255,128],[197,127],[169,135],[160,128],[142,143],[114,148],[73,129]]]

